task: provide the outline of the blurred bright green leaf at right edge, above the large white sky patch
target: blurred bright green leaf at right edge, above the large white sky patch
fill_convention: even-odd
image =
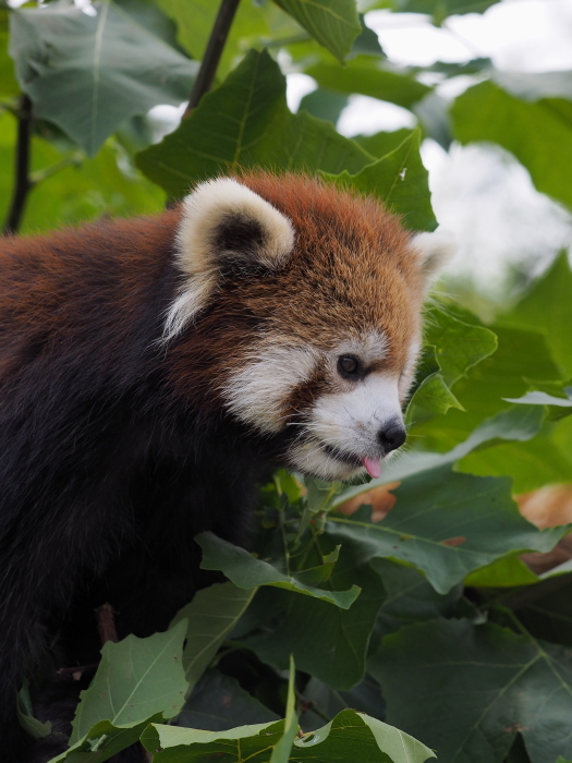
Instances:
[[[451,117],[459,141],[498,143],[526,167],[538,191],[572,207],[572,102],[525,102],[484,82],[455,100]]]

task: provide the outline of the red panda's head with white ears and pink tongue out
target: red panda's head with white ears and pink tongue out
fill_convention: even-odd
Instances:
[[[279,436],[292,469],[377,476],[405,440],[442,239],[412,237],[375,199],[253,173],[199,184],[177,249],[183,281],[166,338],[178,337],[179,379],[202,363],[193,384],[254,433]]]

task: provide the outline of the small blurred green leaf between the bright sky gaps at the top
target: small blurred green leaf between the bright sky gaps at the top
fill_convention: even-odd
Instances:
[[[405,109],[411,109],[433,90],[417,82],[411,71],[394,66],[379,56],[356,56],[343,68],[336,63],[315,63],[304,73],[314,77],[320,87],[334,93],[360,93]]]

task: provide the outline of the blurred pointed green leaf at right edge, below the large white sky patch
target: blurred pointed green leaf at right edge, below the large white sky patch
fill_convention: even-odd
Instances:
[[[565,376],[572,376],[570,294],[572,270],[567,254],[562,252],[519,304],[501,318],[510,326],[541,330]]]

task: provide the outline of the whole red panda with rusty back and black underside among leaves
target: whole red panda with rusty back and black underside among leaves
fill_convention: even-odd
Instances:
[[[120,637],[166,628],[208,582],[193,536],[245,543],[278,465],[379,474],[447,247],[373,198],[251,173],[2,250],[0,734],[23,763],[60,749],[14,710],[54,634],[69,667],[104,602]]]

